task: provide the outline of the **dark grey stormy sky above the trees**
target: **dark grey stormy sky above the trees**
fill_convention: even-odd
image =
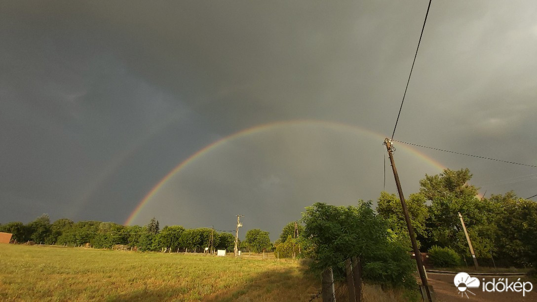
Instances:
[[[3,1],[0,223],[241,214],[275,240],[313,203],[396,193],[382,142],[427,4]],[[533,2],[433,1],[394,139],[537,165],[536,53]],[[443,168],[537,194],[537,168],[395,147],[405,196]]]

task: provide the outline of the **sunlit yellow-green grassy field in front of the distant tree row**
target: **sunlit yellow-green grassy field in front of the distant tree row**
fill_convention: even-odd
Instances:
[[[320,288],[299,262],[246,257],[2,244],[0,268],[0,300],[308,301]]]

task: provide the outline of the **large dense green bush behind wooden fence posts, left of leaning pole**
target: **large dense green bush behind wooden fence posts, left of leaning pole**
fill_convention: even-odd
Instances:
[[[303,221],[311,241],[311,270],[332,267],[336,277],[343,277],[344,261],[359,256],[365,279],[382,285],[416,285],[410,255],[388,240],[386,222],[375,215],[371,202],[361,202],[358,207],[315,203],[306,207]]]

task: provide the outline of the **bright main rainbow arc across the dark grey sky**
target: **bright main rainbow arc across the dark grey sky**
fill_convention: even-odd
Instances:
[[[207,154],[208,152],[210,152],[211,150],[214,150],[216,149],[217,147],[219,147],[220,145],[222,145],[222,143],[226,142],[226,141],[229,141],[229,140],[233,140],[233,139],[236,139],[236,138],[239,138],[239,137],[242,137],[242,136],[247,136],[247,135],[252,135],[252,134],[256,134],[256,133],[259,133],[259,132],[263,132],[263,131],[268,131],[268,130],[272,130],[274,128],[277,128],[277,127],[285,127],[285,126],[291,126],[291,125],[314,125],[314,126],[323,126],[323,127],[326,127],[326,128],[333,128],[335,130],[338,130],[338,131],[351,131],[351,132],[360,132],[360,133],[367,133],[369,135],[373,135],[373,136],[376,136],[379,138],[379,144],[380,142],[384,141],[384,138],[385,136],[379,134],[379,133],[376,133],[376,132],[373,132],[371,130],[367,130],[365,128],[361,128],[361,127],[358,127],[358,126],[352,126],[352,125],[347,125],[347,124],[343,124],[343,123],[335,123],[335,122],[331,122],[331,121],[322,121],[322,120],[289,120],[289,121],[276,121],[274,123],[269,123],[269,124],[262,124],[262,125],[257,125],[257,126],[254,126],[254,127],[251,127],[251,128],[246,128],[242,131],[239,131],[239,132],[236,132],[234,134],[231,134],[231,135],[228,135],[222,139],[219,139],[219,140],[216,140],[214,141],[213,143],[207,145],[206,147],[198,150],[197,152],[195,152],[194,154],[192,154],[191,156],[189,156],[186,160],[184,160],[183,162],[179,163],[177,165],[177,167],[173,168],[170,172],[168,172],[168,174],[166,174],[162,179],[161,181],[159,181],[154,187],[153,189],[151,189],[146,196],[143,197],[143,199],[141,200],[141,202],[136,206],[136,208],[134,208],[134,210],[132,211],[132,213],[130,213],[129,217],[127,218],[127,220],[125,221],[124,225],[130,225],[132,224],[133,220],[137,217],[137,215],[140,213],[140,211],[142,210],[142,208],[149,202],[149,200],[158,192],[159,189],[162,188],[162,186],[164,184],[166,184],[166,182],[168,182],[170,180],[170,178],[172,178],[174,175],[176,175],[180,170],[182,170],[183,168],[185,168],[188,164],[194,162],[196,159],[198,159],[199,157]],[[418,152],[416,149],[412,148],[412,147],[409,147],[409,146],[404,146],[404,145],[398,145],[398,148],[403,148],[403,149],[406,149],[408,150],[409,152],[415,154],[416,156],[418,157],[421,157],[423,158],[425,161],[429,162],[430,164],[432,164],[434,167],[438,168],[439,170],[444,170],[445,167],[442,166],[442,164],[440,164],[439,162],[431,159],[429,156],[423,154],[423,153],[420,153]]]

